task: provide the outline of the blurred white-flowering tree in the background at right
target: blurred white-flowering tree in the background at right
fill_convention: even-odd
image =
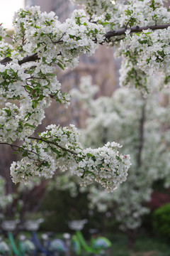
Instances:
[[[90,95],[93,85],[89,77],[81,79],[81,90],[74,89],[74,94],[71,91],[74,99],[84,99],[89,112],[86,129],[81,130],[84,146],[101,146],[104,141],[116,139],[123,144],[123,153],[130,152],[132,167],[127,181],[114,193],[106,193],[95,183],[86,191],[89,206],[99,212],[109,210],[123,230],[140,227],[142,216],[149,213],[146,202],[151,198],[154,181],[161,178],[169,187],[169,105],[162,107],[159,102],[156,90],[159,82],[162,82],[160,76],[150,78],[150,87],[156,88],[147,98],[132,88],[119,88],[111,97],[94,100],[94,95]]]

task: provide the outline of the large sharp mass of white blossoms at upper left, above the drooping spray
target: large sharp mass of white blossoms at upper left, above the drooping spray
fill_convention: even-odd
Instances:
[[[96,42],[103,41],[105,33],[103,26],[89,22],[82,10],[60,23],[52,12],[27,7],[16,12],[13,23],[13,46],[4,41],[0,44],[1,57],[7,58],[0,64],[0,99],[19,100],[19,107],[7,103],[1,110],[2,142],[33,134],[51,99],[69,105],[69,95],[60,91],[54,63],[60,68],[77,65],[79,55],[94,53]],[[2,36],[5,32],[1,27]],[[10,106],[14,115],[8,113]],[[14,129],[5,122],[13,123]]]

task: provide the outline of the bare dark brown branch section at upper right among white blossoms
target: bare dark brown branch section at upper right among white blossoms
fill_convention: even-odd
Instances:
[[[170,24],[163,24],[163,25],[154,25],[154,26],[135,26],[130,29],[130,33],[137,33],[137,32],[142,32],[145,31],[147,29],[151,29],[152,31],[157,30],[157,29],[164,29],[164,28],[168,28],[170,26]],[[106,38],[111,38],[113,36],[122,36],[125,35],[125,31],[127,31],[128,28],[122,28],[119,29],[118,31],[108,31],[105,35]]]

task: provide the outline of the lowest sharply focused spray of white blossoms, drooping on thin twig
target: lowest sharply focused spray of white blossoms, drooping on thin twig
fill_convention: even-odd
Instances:
[[[34,176],[51,178],[57,168],[70,169],[81,178],[81,185],[97,181],[107,191],[113,191],[126,180],[130,156],[119,154],[119,144],[108,142],[103,148],[83,149],[77,139],[74,125],[60,128],[55,124],[37,139],[26,138],[20,148],[23,159],[11,165],[13,182],[27,183]]]

